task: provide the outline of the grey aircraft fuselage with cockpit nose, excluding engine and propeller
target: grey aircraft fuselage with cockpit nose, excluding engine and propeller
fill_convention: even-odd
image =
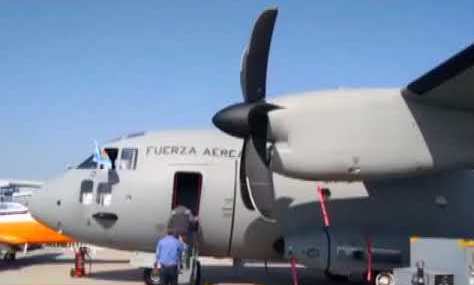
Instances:
[[[380,264],[406,262],[413,235],[474,238],[471,171],[364,182],[274,174],[277,216],[268,221],[242,200],[239,140],[214,131],[161,132],[104,149],[117,149],[115,170],[85,162],[52,179],[31,201],[35,217],[80,241],[154,251],[176,191],[187,185],[199,190],[201,254],[270,259],[287,257],[292,249],[306,265],[335,272],[363,270],[367,238],[382,256]],[[330,192],[327,229],[318,184]],[[345,266],[353,263],[359,267]]]

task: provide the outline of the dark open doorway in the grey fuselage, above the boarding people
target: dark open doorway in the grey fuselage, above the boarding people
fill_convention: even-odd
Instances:
[[[171,209],[185,206],[194,216],[199,214],[202,175],[196,172],[176,172],[174,175],[173,201]]]

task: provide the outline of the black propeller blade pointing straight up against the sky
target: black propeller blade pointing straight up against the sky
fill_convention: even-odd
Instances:
[[[253,103],[265,98],[267,64],[278,9],[263,11],[255,22],[250,43],[242,56],[240,84],[244,101]]]

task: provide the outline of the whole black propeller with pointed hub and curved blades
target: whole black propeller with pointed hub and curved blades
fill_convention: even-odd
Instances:
[[[265,101],[270,44],[278,10],[263,11],[242,55],[240,85],[244,101],[217,112],[212,121],[223,132],[244,139],[240,182],[244,204],[273,219],[272,171],[267,148],[268,113],[280,108]],[[248,195],[250,194],[250,195]]]

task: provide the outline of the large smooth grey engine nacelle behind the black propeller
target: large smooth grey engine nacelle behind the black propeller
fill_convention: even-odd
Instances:
[[[472,113],[405,100],[399,90],[287,98],[269,113],[271,168],[307,180],[363,180],[474,165]]]

